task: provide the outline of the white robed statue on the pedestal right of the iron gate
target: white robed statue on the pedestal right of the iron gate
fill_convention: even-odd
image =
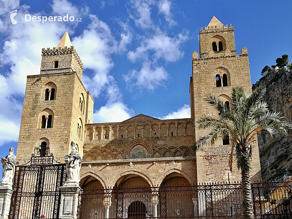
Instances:
[[[80,168],[81,168],[81,157],[76,150],[75,143],[71,142],[72,152],[65,156],[65,162],[67,164],[67,180],[66,182],[76,182],[80,181]]]

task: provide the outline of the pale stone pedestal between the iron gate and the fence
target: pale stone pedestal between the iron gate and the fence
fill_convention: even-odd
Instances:
[[[65,182],[60,187],[61,203],[59,219],[77,219],[78,197],[81,192],[79,183]]]

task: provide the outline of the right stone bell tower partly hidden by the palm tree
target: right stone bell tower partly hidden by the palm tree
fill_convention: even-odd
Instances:
[[[223,25],[213,17],[207,27],[200,28],[200,57],[193,53],[192,77],[190,80],[191,117],[197,125],[203,115],[218,116],[203,98],[211,93],[218,96],[225,105],[231,106],[232,87],[241,86],[247,93],[252,92],[251,77],[246,48],[237,55],[233,25]],[[196,126],[196,141],[207,130]],[[257,142],[253,143],[252,180],[261,179]],[[197,151],[198,183],[240,180],[240,171],[234,162],[233,172],[228,166],[231,142],[220,139],[214,146],[203,146]]]

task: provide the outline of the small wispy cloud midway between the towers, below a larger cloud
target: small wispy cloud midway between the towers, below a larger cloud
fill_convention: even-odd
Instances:
[[[130,89],[135,85],[139,88],[154,90],[163,84],[168,75],[163,67],[157,66],[152,68],[150,62],[145,62],[140,71],[133,69],[128,74],[123,75],[123,77]]]

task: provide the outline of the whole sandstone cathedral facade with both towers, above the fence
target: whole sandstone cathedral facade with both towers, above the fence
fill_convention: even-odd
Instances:
[[[36,146],[49,146],[63,162],[73,141],[83,157],[82,188],[241,179],[236,166],[233,172],[229,169],[228,138],[193,150],[207,133],[197,128],[197,120],[219,113],[203,100],[207,93],[231,107],[232,87],[252,92],[247,49],[237,55],[233,25],[213,17],[200,29],[200,52],[192,54],[191,118],[161,120],[139,114],[123,122],[93,124],[94,100],[82,83],[82,72],[68,33],[57,47],[42,50],[40,74],[27,76],[17,149],[20,164],[30,159]],[[257,141],[253,149],[251,178],[260,180]]]

